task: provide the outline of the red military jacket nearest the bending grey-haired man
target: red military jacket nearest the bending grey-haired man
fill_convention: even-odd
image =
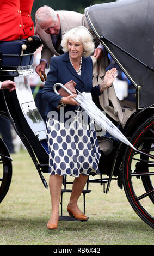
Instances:
[[[34,23],[31,16],[34,0],[20,0],[21,17],[24,25],[23,39],[34,35]]]

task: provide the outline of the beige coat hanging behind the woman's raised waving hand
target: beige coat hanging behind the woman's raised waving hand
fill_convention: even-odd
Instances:
[[[93,60],[93,86],[96,86],[103,80],[108,60],[105,57],[98,64],[96,57],[91,56],[91,58]],[[99,97],[103,110],[124,127],[128,118],[135,112],[135,104],[126,100],[120,101],[115,94],[113,86],[104,90],[103,94]]]

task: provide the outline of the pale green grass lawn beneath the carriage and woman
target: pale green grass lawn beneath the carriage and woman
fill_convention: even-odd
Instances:
[[[48,230],[50,192],[27,151],[12,157],[13,178],[0,204],[0,245],[153,245],[153,229],[135,214],[116,181],[107,194],[103,186],[89,185],[88,222],[59,221],[57,230]],[[48,183],[48,174],[44,176]],[[63,215],[67,215],[69,196],[63,196]],[[83,210],[83,196],[79,207]]]

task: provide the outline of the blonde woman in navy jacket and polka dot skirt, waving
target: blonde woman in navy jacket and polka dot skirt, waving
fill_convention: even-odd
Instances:
[[[77,202],[90,172],[99,174],[101,156],[94,123],[78,106],[77,95],[62,97],[53,91],[56,83],[76,83],[79,92],[100,95],[115,79],[116,69],[106,73],[102,84],[92,86],[94,51],[91,34],[79,26],[68,31],[61,41],[65,54],[51,58],[42,96],[48,101],[46,109],[46,134],[49,148],[49,174],[52,212],[48,229],[56,229],[59,220],[59,202],[63,175],[75,176],[67,211],[78,220],[87,220]],[[89,57],[88,57],[89,56]],[[60,88],[59,88],[60,89]]]

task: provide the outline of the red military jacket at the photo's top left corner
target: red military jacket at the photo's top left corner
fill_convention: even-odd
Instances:
[[[20,0],[1,0],[0,40],[20,40],[23,36],[24,29],[20,11]]]

